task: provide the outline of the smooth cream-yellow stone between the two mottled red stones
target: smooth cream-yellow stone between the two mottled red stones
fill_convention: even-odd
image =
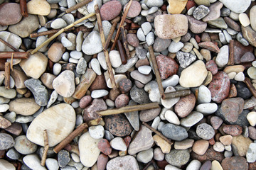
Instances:
[[[207,69],[205,64],[198,60],[181,72],[179,83],[183,87],[200,86],[206,79]]]

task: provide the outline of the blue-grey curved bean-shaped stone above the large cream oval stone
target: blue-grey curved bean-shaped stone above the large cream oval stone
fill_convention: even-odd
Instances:
[[[36,104],[46,106],[48,103],[48,91],[38,79],[28,79],[25,81],[25,86],[33,93]]]

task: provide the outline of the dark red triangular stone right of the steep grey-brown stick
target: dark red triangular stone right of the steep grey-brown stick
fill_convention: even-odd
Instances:
[[[159,55],[156,57],[161,79],[167,79],[178,72],[178,64],[171,57]]]

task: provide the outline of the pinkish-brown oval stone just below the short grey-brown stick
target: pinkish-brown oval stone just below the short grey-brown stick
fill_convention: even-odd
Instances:
[[[191,113],[191,111],[195,107],[195,104],[196,97],[193,93],[191,93],[188,96],[181,97],[178,103],[176,103],[176,105],[174,106],[174,111],[180,118],[184,118],[189,113]]]

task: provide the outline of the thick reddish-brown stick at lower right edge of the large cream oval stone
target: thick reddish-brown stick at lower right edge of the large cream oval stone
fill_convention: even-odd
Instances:
[[[63,149],[66,145],[68,145],[75,137],[77,137],[83,130],[88,128],[88,125],[86,123],[82,123],[78,126],[73,132],[68,135],[62,142],[60,142],[56,147],[54,147],[53,152],[56,154],[60,152],[61,149]]]

